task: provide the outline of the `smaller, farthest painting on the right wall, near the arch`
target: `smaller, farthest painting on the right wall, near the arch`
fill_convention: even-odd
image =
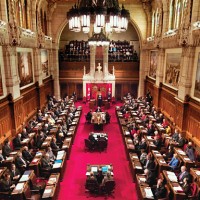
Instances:
[[[150,52],[150,68],[149,68],[149,76],[151,78],[156,79],[156,70],[158,65],[158,51]]]

